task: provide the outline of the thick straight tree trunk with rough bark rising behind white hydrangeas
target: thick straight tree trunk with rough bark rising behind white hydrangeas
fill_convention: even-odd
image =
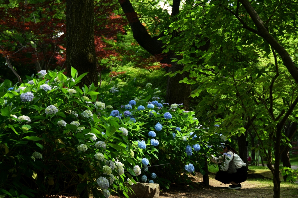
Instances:
[[[79,75],[88,72],[83,84],[98,86],[94,46],[94,2],[91,0],[66,0],[66,50],[67,74],[71,67]]]

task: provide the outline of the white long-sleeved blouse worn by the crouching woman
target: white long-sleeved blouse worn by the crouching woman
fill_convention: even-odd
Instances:
[[[235,163],[237,169],[241,168],[243,166],[244,167],[246,166],[246,163],[244,163],[244,161],[236,153],[233,154],[231,151],[229,151],[229,152],[227,152],[227,154],[229,154],[230,156],[227,156],[227,155],[223,154],[223,156],[215,157],[215,156],[211,155],[212,158],[210,158],[210,159],[211,159],[211,161],[213,161],[216,164],[222,163],[223,159],[224,159],[224,163],[221,164],[221,170],[223,170],[223,171],[228,170],[229,163],[233,159],[233,155],[235,155],[234,156],[234,163]]]

